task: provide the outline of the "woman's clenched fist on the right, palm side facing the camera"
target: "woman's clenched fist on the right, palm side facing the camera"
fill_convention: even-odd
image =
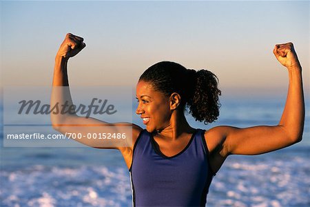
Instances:
[[[291,42],[277,44],[273,48],[273,54],[276,56],[278,61],[288,69],[300,67],[293,43]]]

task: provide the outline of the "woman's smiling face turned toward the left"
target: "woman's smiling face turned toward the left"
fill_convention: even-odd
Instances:
[[[136,114],[143,119],[148,132],[163,130],[169,126],[172,110],[169,107],[169,97],[163,92],[154,90],[150,83],[138,81],[136,99],[138,100]]]

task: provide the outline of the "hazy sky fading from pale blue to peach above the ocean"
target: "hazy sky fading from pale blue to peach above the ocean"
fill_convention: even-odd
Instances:
[[[65,34],[86,48],[71,86],[130,86],[158,61],[207,69],[224,95],[285,95],[276,43],[293,42],[310,88],[309,1],[1,1],[1,86],[51,86]]]

